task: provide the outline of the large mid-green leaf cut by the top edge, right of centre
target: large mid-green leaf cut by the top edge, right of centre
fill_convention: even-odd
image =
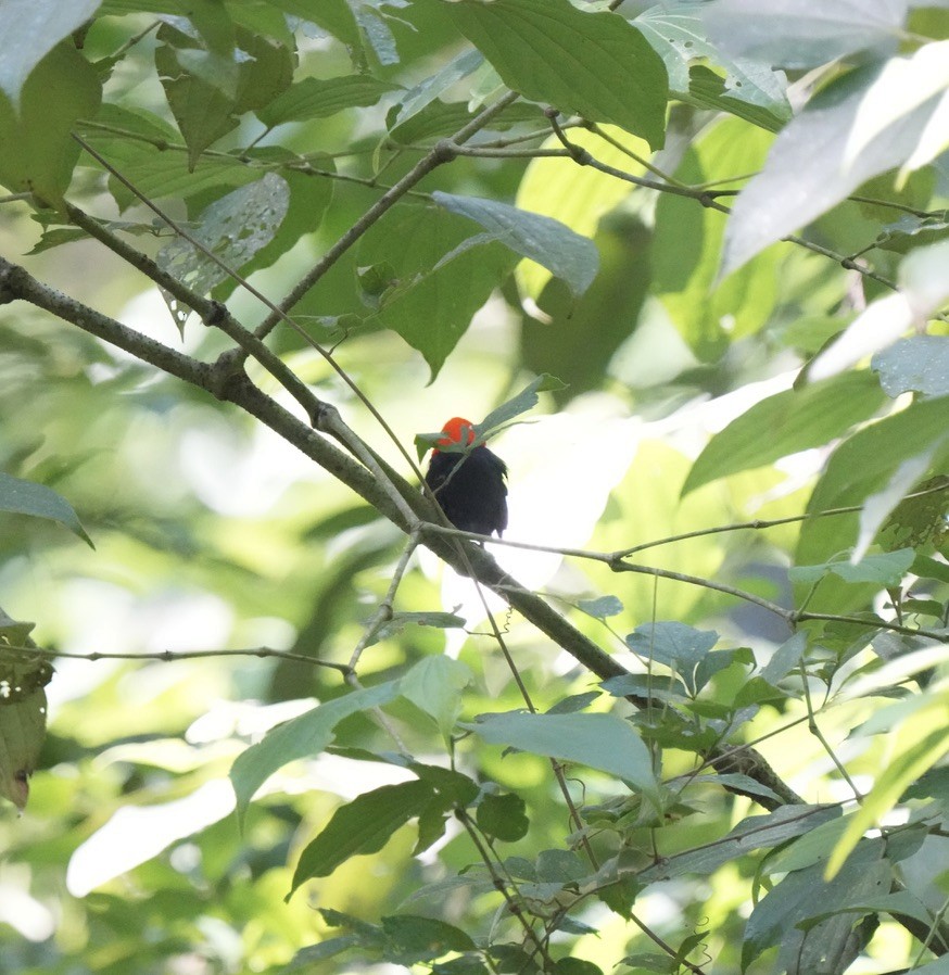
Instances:
[[[448,11],[509,88],[662,145],[666,66],[619,14],[582,13],[568,0],[461,0]]]

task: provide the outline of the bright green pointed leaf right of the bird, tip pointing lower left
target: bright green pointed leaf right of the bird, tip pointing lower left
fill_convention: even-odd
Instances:
[[[682,495],[719,478],[822,446],[869,419],[885,397],[872,373],[843,372],[756,403],[698,455]]]

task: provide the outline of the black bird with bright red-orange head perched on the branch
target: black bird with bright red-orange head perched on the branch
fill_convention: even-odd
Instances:
[[[442,433],[432,451],[426,483],[455,528],[502,536],[507,528],[507,465],[484,444],[467,453],[439,449],[474,443],[470,420],[452,417]]]

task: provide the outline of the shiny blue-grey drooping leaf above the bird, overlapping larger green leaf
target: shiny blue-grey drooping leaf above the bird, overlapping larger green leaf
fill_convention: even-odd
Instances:
[[[566,281],[574,295],[583,294],[593,283],[599,267],[596,244],[559,220],[494,200],[456,197],[439,190],[432,195],[445,210],[480,224],[492,240],[546,267]]]

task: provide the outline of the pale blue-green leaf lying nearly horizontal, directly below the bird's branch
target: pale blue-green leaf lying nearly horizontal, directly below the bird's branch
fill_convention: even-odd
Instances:
[[[632,725],[613,714],[482,714],[471,730],[492,745],[581,762],[657,793],[653,762]]]

